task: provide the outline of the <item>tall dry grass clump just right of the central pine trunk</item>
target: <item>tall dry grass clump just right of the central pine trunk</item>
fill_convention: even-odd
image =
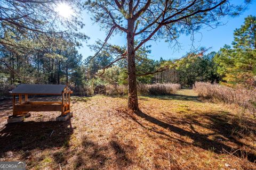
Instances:
[[[180,84],[139,84],[138,94],[140,95],[171,95],[181,88]]]

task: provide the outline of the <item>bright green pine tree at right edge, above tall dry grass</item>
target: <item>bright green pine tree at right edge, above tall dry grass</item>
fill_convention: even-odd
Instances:
[[[241,28],[234,31],[231,46],[224,46],[214,57],[223,83],[229,86],[243,84],[256,86],[256,16],[245,18]]]

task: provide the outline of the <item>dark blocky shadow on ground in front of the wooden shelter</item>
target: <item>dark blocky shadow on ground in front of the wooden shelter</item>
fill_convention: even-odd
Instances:
[[[21,122],[6,124],[0,131],[0,156],[8,151],[46,149],[67,145],[73,134],[71,122]]]

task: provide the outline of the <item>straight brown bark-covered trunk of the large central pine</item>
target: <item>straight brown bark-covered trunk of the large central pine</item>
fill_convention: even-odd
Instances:
[[[135,51],[134,51],[134,21],[128,19],[127,24],[127,61],[128,61],[128,85],[129,85],[129,99],[128,108],[132,111],[138,111],[138,96],[137,96],[137,79],[136,79],[136,65],[135,65]]]

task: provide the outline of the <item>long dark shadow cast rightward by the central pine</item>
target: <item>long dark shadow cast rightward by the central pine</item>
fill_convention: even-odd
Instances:
[[[232,148],[232,147],[226,145],[225,143],[223,143],[221,140],[218,141],[218,140],[209,139],[208,138],[209,134],[201,134],[199,132],[196,132],[195,130],[193,130],[193,126],[192,127],[190,126],[190,129],[193,131],[193,132],[190,132],[190,131],[184,130],[182,128],[179,128],[178,126],[172,125],[170,123],[165,123],[165,122],[158,120],[157,118],[152,117],[150,115],[147,115],[141,111],[137,112],[136,115],[145,119],[148,122],[154,123],[155,125],[160,126],[164,129],[167,129],[171,132],[177,133],[177,134],[185,136],[185,137],[189,137],[190,139],[193,140],[193,143],[190,143],[190,144],[192,144],[196,147],[200,147],[205,150],[213,150],[217,154],[221,154],[223,151],[226,151],[226,154],[232,153],[236,157],[247,158],[247,160],[249,160],[252,163],[256,162],[256,155],[253,152],[248,152],[248,151],[242,150],[241,148]],[[204,128],[211,128],[211,130],[213,130],[215,132],[215,134],[224,136],[230,142],[236,143],[238,146],[241,146],[241,147],[246,146],[244,143],[239,142],[235,138],[231,137],[231,133],[233,133],[232,130],[234,128],[241,129],[241,127],[238,124],[229,124],[227,122],[223,122],[223,120],[220,117],[215,116],[213,114],[205,114],[205,116],[208,117],[210,120],[213,118],[215,121],[212,121],[213,124],[210,127],[204,126]],[[146,128],[146,126],[143,125],[142,123],[140,123],[138,121],[136,121],[136,122],[139,123],[143,128]],[[201,123],[198,123],[198,122],[196,123],[196,121],[193,119],[189,122],[194,122],[195,124],[202,126]],[[159,134],[163,134],[167,137],[170,137],[170,135],[168,135],[164,132],[156,131],[156,130],[154,130],[154,128],[152,128],[152,129],[154,132],[157,132]],[[149,130],[152,130],[152,129],[150,128]],[[255,130],[253,130],[253,129],[252,129],[252,131],[255,132]],[[170,138],[173,138],[173,137],[170,137]],[[180,139],[177,139],[177,140],[179,142],[187,143],[186,141],[182,141]],[[238,150],[238,151],[234,152],[236,150]]]

